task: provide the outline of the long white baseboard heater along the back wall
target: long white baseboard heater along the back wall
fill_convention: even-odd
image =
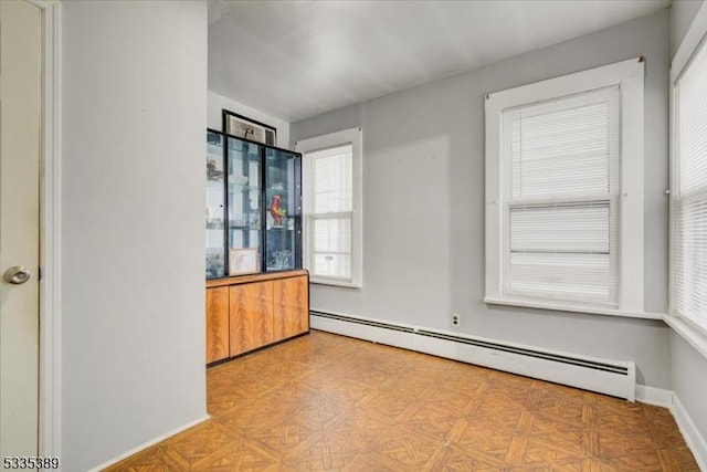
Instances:
[[[310,311],[314,329],[341,334],[635,400],[635,364]]]

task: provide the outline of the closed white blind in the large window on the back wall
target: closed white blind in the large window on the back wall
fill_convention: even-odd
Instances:
[[[503,111],[503,290],[616,306],[619,87]]]

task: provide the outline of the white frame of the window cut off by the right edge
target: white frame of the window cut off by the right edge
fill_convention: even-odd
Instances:
[[[679,49],[675,53],[671,66],[671,188],[679,188],[678,172],[678,81],[693,57],[700,48],[707,48],[707,3],[705,3],[693,20],[693,23],[685,34]],[[676,310],[675,303],[675,280],[676,280],[676,220],[675,206],[677,203],[677,192],[671,192],[671,253],[669,253],[669,291],[668,291],[668,316],[665,321],[677,331],[688,343],[699,353],[707,357],[707,329],[692,319],[684,317]]]

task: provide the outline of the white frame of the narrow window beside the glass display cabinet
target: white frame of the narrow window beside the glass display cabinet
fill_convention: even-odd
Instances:
[[[304,239],[303,255],[304,266],[309,270],[312,259],[312,220],[309,216],[313,212],[312,198],[313,193],[313,169],[312,162],[307,159],[308,153],[324,150],[333,147],[351,145],[352,158],[352,218],[351,218],[351,279],[329,279],[309,274],[309,282],[325,285],[337,285],[344,287],[360,289],[363,283],[363,218],[362,218],[362,150],[363,139],[361,128],[349,128],[340,132],[329,133],[308,139],[302,139],[295,143],[297,153],[302,153],[303,168],[303,217],[304,217]]]

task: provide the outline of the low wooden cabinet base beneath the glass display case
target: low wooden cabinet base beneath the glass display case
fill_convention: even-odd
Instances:
[[[309,332],[307,271],[207,282],[207,363]]]

